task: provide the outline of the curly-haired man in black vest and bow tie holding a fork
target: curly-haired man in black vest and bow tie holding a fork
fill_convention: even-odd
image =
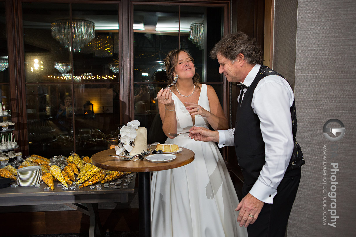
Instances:
[[[235,146],[244,175],[237,222],[247,227],[249,237],[284,237],[304,164],[295,141],[293,90],[282,75],[262,65],[256,39],[243,32],[225,35],[210,56],[218,59],[219,73],[241,88],[235,128],[192,127],[189,136]]]

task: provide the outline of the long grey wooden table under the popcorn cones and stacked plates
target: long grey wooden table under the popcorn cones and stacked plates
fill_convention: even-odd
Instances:
[[[97,235],[103,236],[105,233],[103,233],[101,230],[101,223],[98,215],[98,203],[128,202],[128,194],[135,192],[135,179],[136,175],[133,175],[132,182],[127,185],[127,188],[120,189],[111,187],[90,189],[90,186],[78,189],[77,185],[68,185],[68,187],[72,186],[75,188],[63,190],[62,186],[58,186],[58,181],[54,181],[54,191],[43,190],[43,188],[48,187],[45,183],[42,183],[39,188],[34,188],[34,185],[2,188],[0,189],[0,207],[18,205],[64,204],[82,212],[85,215],[90,216],[90,237]],[[16,183],[16,181],[14,181],[14,183]],[[98,184],[100,184],[100,182]]]

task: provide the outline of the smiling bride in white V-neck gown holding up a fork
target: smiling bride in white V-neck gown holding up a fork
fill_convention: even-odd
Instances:
[[[223,157],[213,142],[200,142],[188,134],[192,126],[227,129],[227,119],[210,85],[200,84],[194,59],[184,49],[175,49],[164,60],[171,88],[158,94],[158,110],[165,144],[177,144],[195,153],[192,163],[153,173],[151,182],[152,236],[221,237],[247,236],[236,221],[239,203]]]

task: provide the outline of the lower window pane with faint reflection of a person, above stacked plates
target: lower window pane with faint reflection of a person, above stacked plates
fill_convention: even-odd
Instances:
[[[70,84],[26,85],[30,154],[69,156],[74,151]]]

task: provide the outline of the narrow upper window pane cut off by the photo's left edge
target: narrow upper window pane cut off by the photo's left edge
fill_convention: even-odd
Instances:
[[[9,82],[9,60],[7,53],[5,4],[0,2],[0,83]],[[2,96],[2,94],[0,94]],[[7,96],[10,96],[9,94]]]

